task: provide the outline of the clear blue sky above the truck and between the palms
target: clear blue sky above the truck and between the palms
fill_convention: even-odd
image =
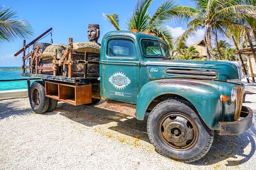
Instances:
[[[157,7],[163,2],[164,0],[154,0],[150,6],[149,13],[152,15],[152,13],[156,12]],[[177,3],[193,6],[193,2],[189,0],[177,0]],[[74,42],[88,42],[87,29],[88,24],[90,23],[100,24],[99,42],[105,33],[113,31],[114,28],[106,19],[104,19],[102,13],[117,13],[120,17],[120,27],[122,29],[127,29],[126,21],[129,19],[136,6],[136,0],[0,0],[0,5],[3,5],[6,8],[10,7],[13,11],[18,12],[18,17],[15,20],[26,19],[30,22],[35,35],[29,40],[26,40],[26,43],[31,42],[38,35],[52,27],[53,43],[67,44],[69,37],[72,37]],[[180,35],[186,28],[186,26],[174,24],[172,20],[167,22],[166,25],[170,26],[174,37]],[[199,32],[198,34],[197,38],[189,40],[188,43],[191,44],[202,38],[202,33]],[[51,36],[47,36],[40,42],[50,43]],[[13,54],[21,48],[22,40],[0,44],[0,66],[21,66],[22,56],[13,56]],[[31,46],[29,51],[32,48],[33,47]]]

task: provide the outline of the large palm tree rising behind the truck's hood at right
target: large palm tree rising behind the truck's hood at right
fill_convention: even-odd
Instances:
[[[250,0],[193,0],[196,8],[176,6],[175,12],[180,20],[188,22],[188,29],[178,38],[185,41],[195,35],[198,29],[205,30],[207,59],[214,59],[212,40],[214,36],[225,36],[227,29],[242,29],[246,19],[255,18],[256,6],[249,5]],[[218,40],[218,38],[215,38]]]

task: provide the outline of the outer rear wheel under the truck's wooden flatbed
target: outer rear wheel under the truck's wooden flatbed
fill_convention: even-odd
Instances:
[[[49,98],[45,97],[44,82],[35,81],[29,88],[29,102],[34,112],[42,114],[49,108]]]

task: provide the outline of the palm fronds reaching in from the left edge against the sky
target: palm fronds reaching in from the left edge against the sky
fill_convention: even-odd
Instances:
[[[12,20],[17,12],[0,6],[0,43],[33,35],[32,27],[26,20]]]

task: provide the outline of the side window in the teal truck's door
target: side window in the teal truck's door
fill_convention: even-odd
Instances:
[[[131,40],[113,39],[108,42],[107,55],[109,57],[135,57],[135,47]]]

